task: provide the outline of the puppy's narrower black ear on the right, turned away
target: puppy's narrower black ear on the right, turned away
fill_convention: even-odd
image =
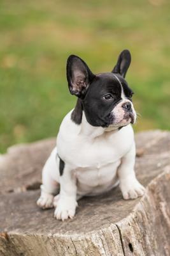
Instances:
[[[112,73],[118,73],[125,77],[127,69],[131,64],[131,53],[128,50],[124,50],[118,56],[117,65],[111,71]]]

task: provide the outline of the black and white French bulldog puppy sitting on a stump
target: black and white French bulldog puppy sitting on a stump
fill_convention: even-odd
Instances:
[[[112,72],[94,75],[78,56],[67,60],[69,91],[78,99],[60,125],[57,147],[43,168],[37,201],[43,209],[54,205],[57,220],[73,218],[82,196],[99,195],[118,184],[124,199],[145,191],[134,173],[131,124],[136,112],[133,92],[125,81],[130,63],[131,54],[124,50]]]

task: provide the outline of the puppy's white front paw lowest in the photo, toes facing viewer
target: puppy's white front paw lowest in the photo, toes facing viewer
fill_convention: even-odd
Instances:
[[[70,198],[59,198],[56,205],[57,207],[54,211],[54,217],[57,220],[64,221],[68,218],[73,219],[76,212],[76,206],[78,205],[76,200],[72,200]]]

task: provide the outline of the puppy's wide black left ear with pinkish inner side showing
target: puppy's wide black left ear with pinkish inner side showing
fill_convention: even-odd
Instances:
[[[67,81],[71,94],[83,99],[94,77],[85,61],[75,55],[69,56],[67,59]]]

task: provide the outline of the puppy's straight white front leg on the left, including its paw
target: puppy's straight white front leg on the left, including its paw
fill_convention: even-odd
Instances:
[[[76,212],[76,177],[70,166],[64,166],[64,172],[60,175],[60,194],[54,217],[57,220],[73,218]]]

